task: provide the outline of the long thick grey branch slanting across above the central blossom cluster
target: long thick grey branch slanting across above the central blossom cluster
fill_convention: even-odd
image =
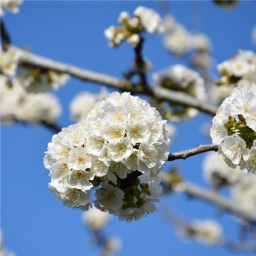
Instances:
[[[149,88],[149,86],[148,88],[140,88],[140,86],[134,86],[134,84],[132,84],[129,80],[122,80],[113,76],[108,76],[106,74],[100,74],[79,68],[74,65],[53,61],[48,58],[24,51],[22,49],[19,49],[19,51],[21,62],[28,63],[30,65],[38,65],[43,68],[70,74],[70,76],[77,77],[83,81],[104,84],[124,92],[145,94],[154,97],[157,100],[166,100],[174,104],[196,108],[210,115],[215,115],[216,111],[218,110],[218,107],[208,104],[202,100],[195,99],[194,97],[191,97],[182,92],[175,92],[173,90],[164,88]]]

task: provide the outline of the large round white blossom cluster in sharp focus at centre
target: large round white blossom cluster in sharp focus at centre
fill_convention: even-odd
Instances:
[[[83,211],[91,205],[89,191],[96,189],[95,206],[120,220],[156,211],[153,203],[162,192],[157,175],[170,145],[165,122],[145,100],[109,94],[84,122],[52,137],[44,158],[49,188],[63,204]]]

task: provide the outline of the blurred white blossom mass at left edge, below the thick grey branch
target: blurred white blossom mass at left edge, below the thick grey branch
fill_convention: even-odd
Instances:
[[[0,119],[3,124],[55,122],[61,114],[58,98],[49,93],[27,93],[17,79],[0,75]]]

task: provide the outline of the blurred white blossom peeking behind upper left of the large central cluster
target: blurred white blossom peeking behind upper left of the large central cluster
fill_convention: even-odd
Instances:
[[[81,92],[74,97],[70,103],[72,119],[76,122],[83,122],[90,110],[94,108],[98,100],[104,100],[108,96],[106,88],[102,88],[100,93]]]

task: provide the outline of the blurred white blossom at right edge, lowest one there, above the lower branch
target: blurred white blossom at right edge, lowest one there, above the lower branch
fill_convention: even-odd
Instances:
[[[245,211],[256,211],[256,177],[243,175],[231,189],[232,200]]]

